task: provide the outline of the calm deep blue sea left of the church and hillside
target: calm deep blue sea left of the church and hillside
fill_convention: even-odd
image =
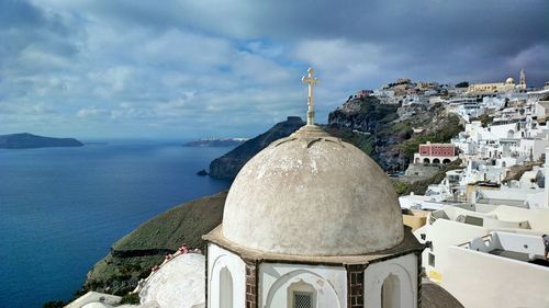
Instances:
[[[195,173],[228,150],[149,141],[0,150],[0,306],[69,299],[114,241],[227,189]]]

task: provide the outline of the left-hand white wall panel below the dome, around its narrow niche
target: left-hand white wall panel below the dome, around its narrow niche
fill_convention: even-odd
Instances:
[[[233,307],[246,305],[246,266],[240,256],[216,244],[208,244],[208,307],[220,307],[220,272],[226,267],[233,276]]]

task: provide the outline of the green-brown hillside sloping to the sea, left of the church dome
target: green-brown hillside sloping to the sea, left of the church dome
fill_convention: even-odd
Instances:
[[[178,205],[141,225],[93,265],[79,294],[98,290],[124,295],[183,243],[203,250],[202,235],[221,224],[226,195],[221,192]]]

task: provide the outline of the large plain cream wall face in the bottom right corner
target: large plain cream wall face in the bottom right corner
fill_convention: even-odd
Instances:
[[[449,248],[442,287],[464,307],[549,307],[549,269],[464,248]]]

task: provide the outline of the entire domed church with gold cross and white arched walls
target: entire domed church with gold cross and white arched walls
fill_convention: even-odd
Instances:
[[[424,247],[381,168],[313,122],[240,170],[203,238],[209,308],[421,307]]]

